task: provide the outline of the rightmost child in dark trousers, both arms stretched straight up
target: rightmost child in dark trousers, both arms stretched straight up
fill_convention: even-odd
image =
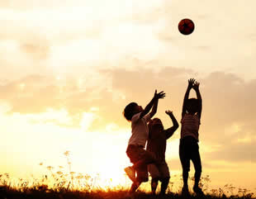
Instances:
[[[189,92],[194,89],[197,98],[188,99]],[[201,124],[201,94],[199,92],[199,83],[194,78],[188,80],[187,91],[185,93],[182,113],[182,130],[179,145],[179,158],[183,166],[183,195],[189,195],[187,178],[190,171],[190,160],[195,168],[195,184],[193,191],[197,195],[203,195],[198,183],[201,178],[201,158],[198,146],[198,130]]]

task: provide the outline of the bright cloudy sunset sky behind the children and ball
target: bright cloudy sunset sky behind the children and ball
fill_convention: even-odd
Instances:
[[[119,182],[130,165],[124,107],[145,107],[164,90],[156,116],[168,128],[164,111],[181,120],[187,79],[196,78],[203,175],[215,186],[255,191],[254,7],[254,0],[2,0],[0,173],[66,167],[68,150],[74,172]],[[183,18],[195,23],[189,36],[178,32]],[[182,172],[179,138],[180,128],[168,140],[171,175]]]

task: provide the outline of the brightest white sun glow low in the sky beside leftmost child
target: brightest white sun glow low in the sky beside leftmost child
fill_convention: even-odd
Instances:
[[[127,183],[123,170],[130,165],[125,152],[126,143],[120,143],[121,135],[114,134],[113,132],[109,135],[88,132],[88,141],[85,141],[86,145],[84,145],[84,159],[78,156],[73,157],[73,161],[78,164],[76,169],[92,177],[98,176],[97,183],[100,187],[124,187]],[[106,142],[107,137],[108,140],[112,140],[111,143]],[[85,163],[87,168],[83,167]]]

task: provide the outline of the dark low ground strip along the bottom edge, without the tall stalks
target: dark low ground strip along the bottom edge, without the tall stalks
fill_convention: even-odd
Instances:
[[[83,192],[83,191],[69,191],[69,190],[62,190],[62,191],[57,191],[54,189],[40,189],[39,187],[37,188],[27,188],[26,190],[17,190],[13,189],[10,187],[1,187],[0,188],[0,198],[2,199],[83,199],[83,198],[88,198],[88,199],[120,199],[120,198],[134,198],[134,199],[160,199],[160,198],[175,198],[175,199],[182,199],[182,197],[179,193],[173,193],[173,192],[168,192],[165,196],[160,196],[156,195],[153,196],[148,192],[135,192],[134,195],[129,196],[127,195],[127,191],[122,191],[122,190],[107,190],[107,191],[102,191],[102,190],[94,190],[92,192]],[[226,197],[225,193],[220,190],[220,192],[216,194],[206,194],[204,197],[196,197],[196,196],[191,196],[187,198],[209,198],[209,199],[217,199],[217,198],[232,198],[232,199],[251,199],[254,198],[250,193],[244,194],[244,195],[232,195],[230,197]]]

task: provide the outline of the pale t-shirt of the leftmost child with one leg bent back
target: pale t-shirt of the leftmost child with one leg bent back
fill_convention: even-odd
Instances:
[[[140,119],[140,114],[141,112],[131,118],[131,136],[128,145],[141,145],[145,147],[149,137],[147,122],[150,119],[150,115],[147,114]]]

